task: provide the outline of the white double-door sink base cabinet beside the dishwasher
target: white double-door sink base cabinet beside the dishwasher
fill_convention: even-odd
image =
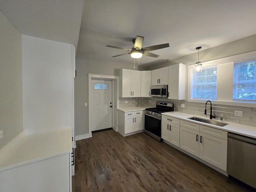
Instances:
[[[226,171],[228,132],[180,120],[180,148]]]

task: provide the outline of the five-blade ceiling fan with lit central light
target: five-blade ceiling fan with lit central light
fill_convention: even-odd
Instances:
[[[132,42],[134,43],[134,46],[133,46],[132,49],[116,47],[116,46],[111,46],[111,45],[107,45],[107,47],[112,47],[112,48],[116,48],[116,49],[122,49],[122,50],[130,51],[128,53],[124,53],[124,54],[120,54],[120,55],[116,55],[116,56],[112,56],[112,57],[118,57],[118,56],[122,56],[122,55],[126,55],[126,54],[131,54],[132,58],[141,58],[142,55],[157,58],[159,55],[150,53],[148,51],[153,51],[153,50],[157,50],[157,49],[170,47],[169,43],[154,45],[154,46],[149,46],[149,47],[142,47],[143,41],[144,41],[144,37],[137,36],[135,39],[132,40]]]

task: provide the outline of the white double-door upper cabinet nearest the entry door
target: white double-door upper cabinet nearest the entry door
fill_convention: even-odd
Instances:
[[[119,97],[140,97],[140,71],[120,69]]]

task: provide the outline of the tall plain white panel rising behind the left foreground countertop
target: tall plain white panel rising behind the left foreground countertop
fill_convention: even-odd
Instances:
[[[74,126],[73,45],[22,35],[23,129]]]

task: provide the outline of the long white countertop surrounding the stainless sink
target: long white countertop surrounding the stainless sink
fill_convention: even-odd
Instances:
[[[225,123],[228,123],[228,125],[226,125],[224,127],[220,127],[220,126],[211,125],[211,124],[204,123],[204,122],[198,122],[198,121],[195,121],[195,120],[187,119],[187,118],[190,118],[190,117],[200,117],[200,118],[204,118],[204,119],[209,119],[209,118],[196,116],[196,115],[192,115],[192,114],[181,113],[181,112],[175,112],[175,111],[162,113],[162,115],[171,116],[171,117],[174,117],[174,118],[183,119],[183,120],[186,120],[186,121],[194,122],[194,123],[205,125],[205,126],[208,126],[208,127],[213,127],[213,128],[217,128],[217,129],[220,129],[220,130],[224,130],[224,131],[228,131],[228,132],[232,132],[232,133],[236,133],[236,134],[256,138],[256,127],[254,127],[254,126],[247,126],[247,125],[242,125],[242,124],[223,121]],[[214,120],[214,121],[221,122],[220,120]]]

